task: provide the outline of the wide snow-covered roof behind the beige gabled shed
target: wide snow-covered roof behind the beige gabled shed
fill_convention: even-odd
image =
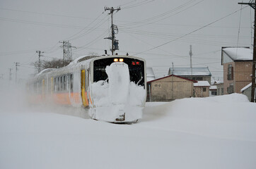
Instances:
[[[191,68],[170,68],[169,73],[170,73],[170,75],[187,76],[187,75],[191,75]],[[208,67],[192,68],[192,75],[194,75],[194,76],[200,76],[200,75],[211,76],[211,72]]]

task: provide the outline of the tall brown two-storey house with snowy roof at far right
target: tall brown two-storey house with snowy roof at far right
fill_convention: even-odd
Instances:
[[[249,47],[222,47],[224,94],[241,93],[252,82],[252,51]]]

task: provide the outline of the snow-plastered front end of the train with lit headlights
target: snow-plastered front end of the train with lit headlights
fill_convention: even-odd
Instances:
[[[89,115],[111,123],[142,118],[146,101],[146,63],[132,56],[103,56],[91,61]]]

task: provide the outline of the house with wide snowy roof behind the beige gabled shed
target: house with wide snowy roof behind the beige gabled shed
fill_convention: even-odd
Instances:
[[[204,68],[169,68],[168,75],[178,75],[190,80],[208,81],[211,84],[211,72]]]

